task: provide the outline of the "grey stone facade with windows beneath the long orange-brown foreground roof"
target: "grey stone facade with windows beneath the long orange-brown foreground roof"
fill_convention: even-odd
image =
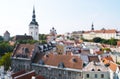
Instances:
[[[67,68],[58,68],[48,65],[32,64],[32,69],[46,79],[82,79],[81,70],[74,71]]]

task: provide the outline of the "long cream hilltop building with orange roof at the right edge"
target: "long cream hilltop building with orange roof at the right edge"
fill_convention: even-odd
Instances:
[[[82,34],[82,36],[84,39],[89,39],[89,40],[91,40],[95,37],[100,37],[103,39],[111,39],[111,38],[120,39],[120,36],[119,36],[117,30],[115,30],[115,29],[85,31]]]

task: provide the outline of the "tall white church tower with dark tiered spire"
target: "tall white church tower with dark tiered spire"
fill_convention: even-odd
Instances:
[[[36,21],[34,7],[33,7],[32,21],[29,24],[29,35],[31,35],[34,40],[39,40],[39,25],[38,22]]]

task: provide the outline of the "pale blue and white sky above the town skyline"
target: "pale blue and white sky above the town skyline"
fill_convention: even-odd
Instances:
[[[54,27],[58,34],[90,30],[120,30],[120,0],[0,0],[0,35],[28,34],[35,6],[39,33]]]

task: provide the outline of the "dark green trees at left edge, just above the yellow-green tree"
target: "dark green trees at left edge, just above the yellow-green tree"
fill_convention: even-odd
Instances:
[[[9,42],[0,42],[0,55],[2,56],[6,52],[12,52],[13,51],[13,46],[9,44]]]

